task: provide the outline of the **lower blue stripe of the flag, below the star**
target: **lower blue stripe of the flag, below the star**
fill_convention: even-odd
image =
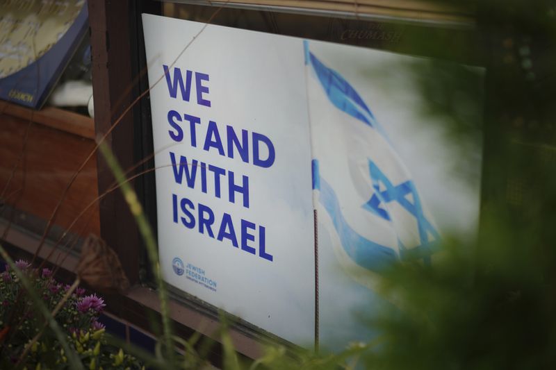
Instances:
[[[362,237],[347,224],[338,198],[324,178],[320,178],[320,203],[332,219],[343,249],[359,266],[379,272],[398,260],[393,249]]]

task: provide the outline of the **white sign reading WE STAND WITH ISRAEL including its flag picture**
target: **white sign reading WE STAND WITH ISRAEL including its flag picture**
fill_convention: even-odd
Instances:
[[[452,176],[461,157],[418,118],[408,76],[385,86],[368,67],[416,58],[154,15],[143,25],[174,287],[312,346],[316,209],[320,341],[342,346],[373,335],[357,313],[388,304],[357,271],[412,253],[428,263],[439,230],[475,228],[478,176],[471,190]]]

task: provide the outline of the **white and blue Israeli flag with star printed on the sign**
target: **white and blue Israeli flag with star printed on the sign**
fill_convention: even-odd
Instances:
[[[313,203],[350,271],[430,262],[439,233],[409,171],[373,112],[304,41]],[[372,102],[371,102],[372,103]]]

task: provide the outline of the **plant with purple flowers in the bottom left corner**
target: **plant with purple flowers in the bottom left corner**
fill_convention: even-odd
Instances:
[[[85,289],[76,284],[58,283],[48,268],[33,269],[24,260],[15,262],[14,266],[15,269],[6,264],[6,270],[0,274],[2,369],[74,368],[68,361],[70,355],[75,355],[89,369],[140,368],[131,355],[107,345],[104,325],[98,321],[105,307],[102,298],[96,294],[85,295]],[[27,280],[30,286],[26,287],[22,280]],[[69,346],[64,348],[53,330],[42,332],[44,317],[36,310],[31,295],[26,294],[28,288],[53,312]]]

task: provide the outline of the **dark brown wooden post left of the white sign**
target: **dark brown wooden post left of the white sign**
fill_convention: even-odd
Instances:
[[[95,132],[105,135],[122,116],[106,138],[120,165],[131,167],[133,157],[133,112],[131,105],[131,27],[129,1],[89,1],[92,85],[95,101]],[[127,110],[127,112],[126,112]],[[99,194],[114,181],[101,155],[97,156]],[[139,243],[136,224],[120,192],[112,192],[99,203],[101,237],[120,256],[131,283],[138,281]]]

